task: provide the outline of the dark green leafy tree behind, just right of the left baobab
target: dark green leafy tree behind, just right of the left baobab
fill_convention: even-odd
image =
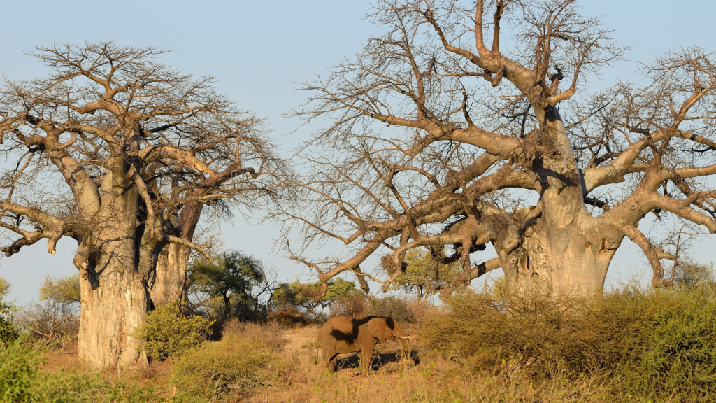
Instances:
[[[258,293],[253,290],[267,283],[261,260],[239,251],[225,252],[214,262],[197,260],[190,265],[187,277],[190,293],[221,299],[223,318],[231,315],[232,303],[234,308],[252,304],[256,310]]]

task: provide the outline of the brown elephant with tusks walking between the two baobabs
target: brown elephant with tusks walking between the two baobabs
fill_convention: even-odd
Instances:
[[[386,340],[400,340],[403,349],[410,351],[409,339],[400,326],[392,318],[352,319],[345,316],[336,316],[321,327],[318,333],[318,348],[321,349],[321,364],[334,373],[331,361],[337,354],[358,353],[360,370],[366,372],[370,368],[373,349],[376,343]]]

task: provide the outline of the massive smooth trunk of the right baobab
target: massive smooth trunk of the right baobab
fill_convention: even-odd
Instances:
[[[541,183],[541,214],[526,214],[523,222],[504,225],[495,250],[513,293],[536,286],[555,298],[601,295],[624,234],[586,211],[581,174],[564,125],[554,110],[546,116],[554,157],[532,163]]]

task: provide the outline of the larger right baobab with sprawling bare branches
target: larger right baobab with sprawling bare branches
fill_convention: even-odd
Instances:
[[[378,1],[384,33],[304,86],[294,115],[330,123],[301,148],[302,203],[276,215],[301,247],[337,240],[349,255],[314,261],[286,242],[291,257],[323,282],[352,271],[387,290],[425,247],[462,265],[442,297],[501,267],[509,291],[559,298],[601,293],[627,237],[668,285],[662,260],[682,243],[638,225],[653,213],[716,232],[712,54],[681,49],[642,65],[641,84],[588,95],[624,48],[575,3]],[[473,264],[488,243],[498,257]],[[379,278],[364,262],[386,248],[400,270]]]

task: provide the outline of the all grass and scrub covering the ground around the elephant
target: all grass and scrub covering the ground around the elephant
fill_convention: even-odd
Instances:
[[[338,298],[332,315],[392,316],[419,336],[409,358],[397,344],[379,346],[374,371],[358,377],[350,357],[338,376],[314,364],[320,323],[305,315],[212,326],[179,304],[161,306],[140,334],[147,354],[173,361],[151,363],[153,383],[144,386],[48,372],[43,357],[57,350],[20,331],[0,345],[0,403],[708,402],[716,399],[716,282],[709,267],[691,274],[672,289],[625,286],[558,301],[507,295],[499,281],[442,306],[354,293]],[[208,339],[212,327],[218,341]]]

